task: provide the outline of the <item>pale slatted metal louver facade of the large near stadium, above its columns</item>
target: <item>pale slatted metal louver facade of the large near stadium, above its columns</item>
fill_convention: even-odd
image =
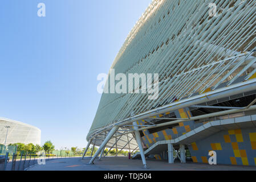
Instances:
[[[209,16],[210,3],[217,5],[216,16]],[[158,73],[159,97],[148,100],[148,94],[103,94],[87,140],[99,146],[115,123],[131,121],[131,117],[174,105],[177,100],[182,103],[209,88],[225,91],[234,84],[255,82],[251,79],[256,73],[255,20],[253,0],[152,1],[111,68],[125,75]],[[129,137],[132,139],[131,133],[121,136],[117,147],[123,148]],[[135,149],[136,141],[131,142],[134,146],[129,148]]]

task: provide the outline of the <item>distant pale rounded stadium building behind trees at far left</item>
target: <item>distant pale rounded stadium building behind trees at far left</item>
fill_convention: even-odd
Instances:
[[[39,144],[41,143],[41,130],[11,119],[0,118],[0,144]]]

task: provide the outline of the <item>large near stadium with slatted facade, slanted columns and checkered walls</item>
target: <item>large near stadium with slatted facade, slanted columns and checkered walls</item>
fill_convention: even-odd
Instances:
[[[255,166],[255,25],[254,0],[152,1],[111,69],[158,74],[158,97],[103,93],[87,135],[86,151],[100,146],[90,163],[108,147],[139,150],[133,158],[144,166],[151,156],[185,163],[188,151],[194,163],[215,151],[218,164]]]

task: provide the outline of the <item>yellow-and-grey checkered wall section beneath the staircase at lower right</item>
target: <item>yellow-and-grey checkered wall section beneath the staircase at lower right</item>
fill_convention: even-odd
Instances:
[[[216,151],[218,164],[256,166],[256,129],[221,131],[188,147],[195,163],[208,163]]]

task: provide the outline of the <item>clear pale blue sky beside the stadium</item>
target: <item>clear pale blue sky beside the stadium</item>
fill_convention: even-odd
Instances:
[[[101,97],[97,75],[108,73],[150,2],[1,1],[0,117],[38,127],[41,144],[85,147]]]

